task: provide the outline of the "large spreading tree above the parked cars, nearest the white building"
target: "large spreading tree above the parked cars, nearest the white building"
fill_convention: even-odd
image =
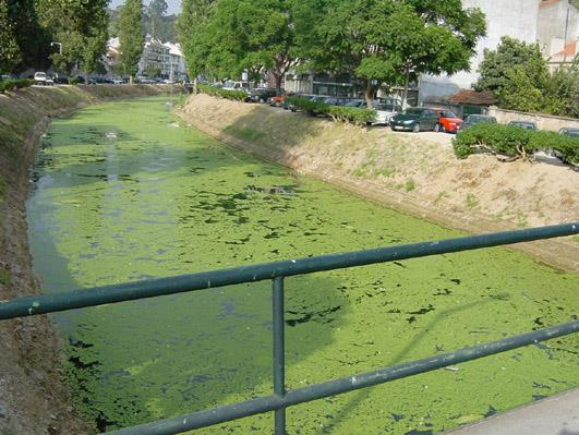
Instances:
[[[345,72],[365,86],[369,107],[378,85],[421,73],[454,74],[470,68],[484,14],[460,0],[327,0],[304,38],[315,69]],[[319,7],[319,4],[317,5]],[[303,44],[302,44],[303,47]]]

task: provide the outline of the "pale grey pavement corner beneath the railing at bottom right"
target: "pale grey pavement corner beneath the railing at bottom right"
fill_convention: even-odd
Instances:
[[[579,389],[445,432],[445,435],[579,435]]]

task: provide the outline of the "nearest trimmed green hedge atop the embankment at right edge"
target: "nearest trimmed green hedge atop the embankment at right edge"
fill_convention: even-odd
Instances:
[[[524,130],[515,125],[479,123],[463,130],[453,140],[458,158],[478,150],[516,158],[528,158],[538,150],[554,149],[565,162],[579,164],[579,137],[554,132]]]

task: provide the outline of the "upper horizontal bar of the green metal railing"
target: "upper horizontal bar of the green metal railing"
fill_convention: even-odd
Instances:
[[[241,266],[0,302],[0,319],[579,233],[579,222]]]

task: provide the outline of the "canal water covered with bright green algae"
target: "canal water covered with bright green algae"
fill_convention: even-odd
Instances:
[[[57,119],[27,204],[45,291],[459,235],[233,150],[167,97]],[[579,277],[481,250],[288,278],[287,385],[575,318]],[[111,430],[272,391],[270,283],[53,316],[81,412]],[[579,385],[555,339],[288,410],[290,434],[431,434]],[[264,414],[200,431],[270,433]]]

